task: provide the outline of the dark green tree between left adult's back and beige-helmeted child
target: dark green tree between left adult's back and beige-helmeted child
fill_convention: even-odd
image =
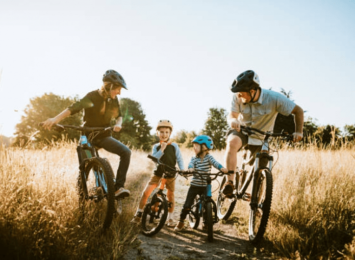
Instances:
[[[140,103],[130,98],[122,98],[120,109],[123,117],[122,130],[114,133],[113,136],[136,149],[150,150],[152,137],[149,132],[151,126],[145,120]]]

